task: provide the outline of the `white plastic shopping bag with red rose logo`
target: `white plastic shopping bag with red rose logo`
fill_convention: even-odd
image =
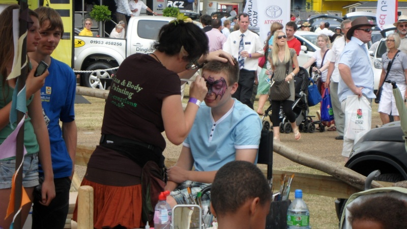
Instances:
[[[360,132],[370,130],[372,108],[369,101],[358,95],[348,96],[345,108],[345,133],[344,138],[355,140]],[[360,136],[358,136],[360,137]]]

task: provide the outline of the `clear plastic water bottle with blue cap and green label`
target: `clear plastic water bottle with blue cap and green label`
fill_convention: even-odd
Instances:
[[[309,229],[309,210],[307,204],[302,199],[302,190],[295,191],[296,198],[289,205],[287,211],[288,229]]]

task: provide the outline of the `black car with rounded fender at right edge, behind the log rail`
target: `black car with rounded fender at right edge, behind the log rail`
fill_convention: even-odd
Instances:
[[[407,152],[400,121],[371,129],[355,144],[345,167],[363,176],[379,169],[378,181],[398,182],[407,180]],[[335,209],[338,217],[346,199],[337,199]]]

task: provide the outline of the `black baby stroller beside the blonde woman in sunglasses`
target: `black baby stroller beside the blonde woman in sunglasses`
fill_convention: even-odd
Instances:
[[[314,77],[318,77],[314,75]],[[293,103],[293,111],[296,115],[296,123],[299,126],[300,131],[313,133],[315,131],[315,124],[321,125],[312,120],[315,116],[309,116],[308,107],[308,85],[310,84],[310,78],[308,71],[303,67],[300,67],[300,71],[294,76],[296,96]],[[270,100],[270,97],[269,97]],[[263,118],[263,129],[270,129],[270,122],[266,120],[266,117],[271,119],[271,105],[265,111]],[[320,128],[321,130],[321,128]],[[280,109],[280,133],[290,133],[293,131],[288,119],[284,115],[282,109]]]

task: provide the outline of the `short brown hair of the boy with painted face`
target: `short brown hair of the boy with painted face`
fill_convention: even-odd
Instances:
[[[211,61],[203,65],[202,72],[224,73],[227,75],[227,83],[230,86],[239,81],[239,64],[236,58],[233,59],[233,62],[235,65],[231,65],[229,62]]]

